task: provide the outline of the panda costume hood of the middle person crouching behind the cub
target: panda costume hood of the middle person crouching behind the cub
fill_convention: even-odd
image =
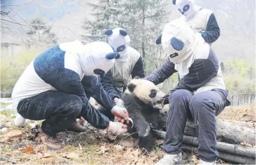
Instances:
[[[114,28],[106,30],[105,34],[108,36],[109,45],[119,54],[116,60],[126,62],[129,56],[127,47],[130,44],[128,33],[123,28]]]

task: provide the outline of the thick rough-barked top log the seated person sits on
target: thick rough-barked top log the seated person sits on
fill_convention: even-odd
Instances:
[[[161,111],[161,128],[166,131],[167,111]],[[193,121],[187,120],[184,135],[197,137],[195,124]],[[217,120],[217,138],[224,141],[231,141],[240,144],[246,141],[255,145],[255,129],[241,127],[236,123],[230,123],[224,120]]]

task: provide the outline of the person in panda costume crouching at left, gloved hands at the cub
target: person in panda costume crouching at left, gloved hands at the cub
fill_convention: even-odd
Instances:
[[[115,135],[127,132],[123,123],[113,123],[89,103],[86,91],[118,117],[127,110],[116,106],[99,83],[98,75],[112,68],[118,54],[106,42],[83,45],[78,40],[66,42],[41,53],[22,73],[12,92],[13,105],[18,112],[16,126],[25,119],[44,120],[39,137],[49,149],[61,149],[56,134],[66,129],[84,131],[76,118],[83,117],[92,126]]]

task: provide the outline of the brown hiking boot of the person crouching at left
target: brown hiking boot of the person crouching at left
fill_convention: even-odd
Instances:
[[[61,144],[59,143],[56,136],[49,136],[44,134],[44,132],[40,132],[38,137],[41,139],[42,143],[47,146],[48,149],[58,150],[61,149]]]

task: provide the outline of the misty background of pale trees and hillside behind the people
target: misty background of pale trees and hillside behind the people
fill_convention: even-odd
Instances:
[[[255,103],[255,1],[195,2],[214,11],[220,26],[212,47],[229,100],[233,105]],[[107,28],[128,31],[149,74],[164,62],[155,39],[164,24],[180,16],[170,0],[1,0],[1,97],[10,97],[22,71],[45,49],[75,39],[107,41]],[[160,86],[167,93],[177,82],[174,74]]]

